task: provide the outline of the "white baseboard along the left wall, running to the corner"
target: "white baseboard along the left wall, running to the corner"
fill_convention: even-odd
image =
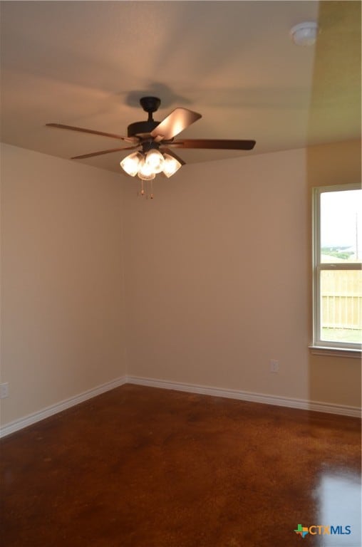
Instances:
[[[115,380],[111,380],[110,382],[106,382],[105,384],[98,385],[97,387],[93,387],[93,389],[91,390],[84,391],[83,393],[80,393],[79,395],[75,395],[74,397],[69,397],[69,399],[63,400],[61,402],[57,402],[55,405],[51,405],[50,407],[43,408],[43,410],[39,410],[38,412],[33,412],[32,414],[29,414],[28,416],[25,416],[24,418],[20,418],[19,420],[10,422],[9,424],[6,424],[4,425],[4,427],[0,428],[0,438],[6,437],[6,435],[19,431],[19,429],[23,429],[24,427],[27,427],[28,425],[32,425],[32,424],[35,424],[36,422],[40,422],[40,420],[44,420],[45,418],[53,416],[54,414],[57,414],[58,412],[61,412],[62,410],[66,410],[67,408],[74,407],[75,405],[79,405],[80,402],[84,402],[88,399],[91,399],[92,397],[96,397],[96,395],[100,395],[101,393],[104,393],[106,391],[113,390],[115,387],[123,385],[126,382],[127,382],[127,377],[120,376],[118,378],[115,378]]]

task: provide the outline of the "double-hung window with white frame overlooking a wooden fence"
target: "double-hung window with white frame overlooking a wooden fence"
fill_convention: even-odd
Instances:
[[[314,188],[313,206],[313,346],[361,350],[362,189]]]

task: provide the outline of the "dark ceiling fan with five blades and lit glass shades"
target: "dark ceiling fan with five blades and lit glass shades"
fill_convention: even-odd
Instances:
[[[129,146],[126,147],[100,150],[99,152],[73,156],[71,159],[82,160],[86,157],[109,154],[110,152],[135,150],[120,162],[120,166],[132,177],[138,174],[141,180],[152,180],[157,173],[161,172],[166,177],[171,177],[182,165],[185,165],[185,162],[172,150],[174,148],[213,150],[252,150],[254,148],[254,140],[175,140],[175,136],[199,120],[201,114],[187,108],[175,108],[162,122],[157,122],[153,119],[152,114],[158,110],[160,103],[161,100],[157,97],[143,97],[140,99],[140,105],[148,113],[148,120],[128,125],[127,137],[61,123],[47,123],[46,125],[48,127],[58,127],[59,129],[102,135],[103,137],[110,137],[128,143]]]

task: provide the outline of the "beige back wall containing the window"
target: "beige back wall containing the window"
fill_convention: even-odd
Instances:
[[[128,184],[128,373],[361,406],[358,360],[308,350],[309,186],[337,162],[358,176],[356,145],[336,148],[329,172],[317,148],[187,165],[152,202]]]

